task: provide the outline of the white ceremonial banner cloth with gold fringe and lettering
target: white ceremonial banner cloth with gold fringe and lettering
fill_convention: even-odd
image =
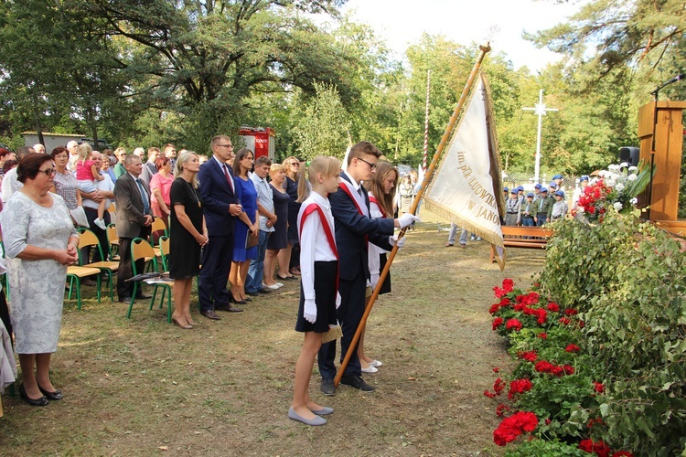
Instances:
[[[424,204],[457,227],[496,246],[503,268],[505,250],[500,215],[505,206],[500,186],[498,138],[483,74],[472,91],[456,132],[427,187]]]

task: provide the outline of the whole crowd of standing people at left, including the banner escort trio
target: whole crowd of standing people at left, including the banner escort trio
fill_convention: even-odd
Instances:
[[[134,269],[131,247],[135,239],[150,239],[155,218],[169,228],[172,320],[184,330],[198,325],[190,312],[196,277],[200,315],[210,321],[221,319],[218,312],[239,313],[251,297],[300,278],[294,319],[305,339],[289,418],[322,425],[322,416],[333,412],[310,399],[308,386],[317,358],[321,391],[336,392],[336,339],[323,343],[322,338],[338,325],[340,359],[352,351],[341,383],[374,390],[361,375],[378,371],[382,363],[365,354],[364,331],[357,348],[351,341],[371,288],[380,281],[386,252],[404,242],[394,230],[419,220],[411,214],[394,217],[406,210],[406,202],[396,198],[398,170],[369,142],[352,147],[343,171],[333,157],[306,164],[288,157],[274,164],[268,157],[255,160],[246,148],[234,156],[226,135],[212,138],[209,146],[205,161],[203,154],[177,154],[167,144],[148,149],[145,163],[145,151],[101,153],[87,143],[68,143],[50,154],[35,148],[9,156],[0,151],[5,163],[18,159],[3,176],[0,222],[12,298],[10,322],[4,324],[14,331],[23,374],[19,392],[28,404],[62,399],[49,377],[49,361],[58,345],[67,268],[79,261],[77,228],[90,228],[107,253],[106,228],[114,224],[117,295],[120,302],[133,303],[150,296],[128,281],[134,271],[144,271],[145,262],[135,260]],[[48,289],[38,281],[46,277]],[[138,296],[132,298],[134,291]],[[381,293],[388,292],[390,276],[381,285]]]

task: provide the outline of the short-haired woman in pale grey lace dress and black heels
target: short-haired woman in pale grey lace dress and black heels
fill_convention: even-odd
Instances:
[[[48,192],[55,176],[48,154],[28,154],[16,175],[24,186],[7,202],[2,228],[23,377],[19,393],[28,404],[45,406],[62,398],[50,381],[50,356],[57,350],[67,266],[77,260],[79,236],[62,197]]]

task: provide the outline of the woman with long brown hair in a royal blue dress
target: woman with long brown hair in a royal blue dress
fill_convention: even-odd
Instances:
[[[250,260],[257,257],[257,245],[248,248],[250,236],[258,237],[260,225],[256,223],[257,214],[257,190],[252,185],[248,173],[252,170],[254,155],[247,148],[242,148],[236,153],[233,160],[233,175],[236,183],[236,197],[243,207],[241,216],[236,221],[233,238],[233,261],[229,281],[231,283],[231,295],[235,303],[245,304],[245,278],[248,276]],[[247,299],[250,300],[250,299]]]

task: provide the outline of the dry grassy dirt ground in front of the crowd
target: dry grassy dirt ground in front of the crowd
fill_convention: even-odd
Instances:
[[[490,330],[492,288],[519,285],[544,252],[509,250],[505,271],[484,241],[445,248],[448,225],[424,211],[391,269],[393,292],[370,315],[367,352],[383,367],[365,394],[340,386],[324,427],[289,420],[298,282],[241,314],[198,327],[166,324],[166,310],[88,300],[65,303],[53,383],[65,398],[29,407],[5,392],[3,455],[501,455],[493,367],[509,363]],[[196,303],[195,301],[193,303]]]

